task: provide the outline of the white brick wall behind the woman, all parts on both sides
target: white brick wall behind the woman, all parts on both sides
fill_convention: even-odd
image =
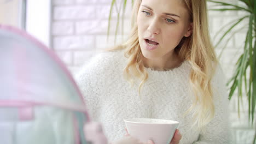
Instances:
[[[118,2],[120,2],[119,0]],[[225,0],[227,1],[227,0]],[[76,73],[83,63],[95,55],[96,51],[106,49],[114,45],[115,27],[110,28],[109,41],[107,42],[108,15],[111,0],[53,0],[53,49],[67,67]],[[238,0],[229,2],[237,3]],[[127,8],[124,19],[124,37],[122,38],[119,28],[117,43],[127,38],[130,31],[131,1],[127,1]],[[241,4],[241,3],[240,3]],[[208,3],[211,7],[212,4]],[[115,10],[115,9],[114,9]],[[245,15],[243,12],[210,11],[209,22],[212,39],[219,28],[230,23],[230,21]],[[117,22],[117,13],[113,14],[112,26]],[[243,22],[246,24],[247,22]],[[229,26],[229,25],[228,25]],[[238,26],[238,27],[241,27]],[[238,29],[238,28],[237,28]],[[224,31],[220,31],[223,33]],[[229,78],[234,71],[234,64],[243,50],[243,41],[246,31],[235,34],[231,38],[220,62],[223,64],[226,77]],[[216,39],[218,39],[218,36]],[[216,43],[214,39],[214,43]],[[216,52],[223,48],[220,44]],[[235,144],[252,143],[254,130],[248,124],[248,103],[246,97],[243,98],[243,106],[240,106],[240,118],[237,113],[237,98],[234,96],[230,101],[230,119],[232,134]]]

